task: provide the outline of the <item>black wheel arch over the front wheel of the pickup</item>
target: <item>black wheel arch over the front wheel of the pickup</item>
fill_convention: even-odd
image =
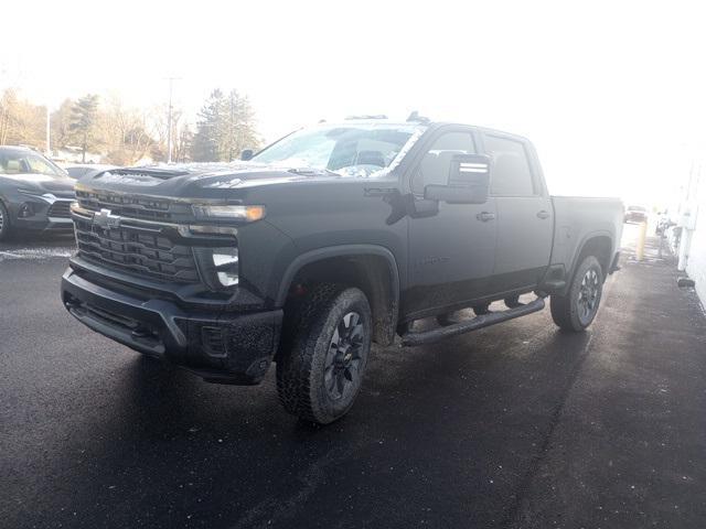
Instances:
[[[387,248],[344,245],[302,253],[287,267],[275,304],[285,306],[292,287],[308,280],[360,288],[371,304],[373,341],[381,345],[393,343],[399,312],[399,271]]]

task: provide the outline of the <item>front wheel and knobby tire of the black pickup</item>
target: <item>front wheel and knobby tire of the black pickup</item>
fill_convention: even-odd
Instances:
[[[342,418],[361,389],[371,349],[372,315],[355,288],[314,287],[295,315],[290,346],[277,363],[277,392],[300,419]]]

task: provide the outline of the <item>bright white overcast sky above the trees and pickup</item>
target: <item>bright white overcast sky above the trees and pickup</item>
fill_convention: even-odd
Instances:
[[[522,133],[553,191],[663,198],[706,136],[699,2],[8,0],[0,88],[110,91],[195,112],[215,87],[259,130],[352,114]]]

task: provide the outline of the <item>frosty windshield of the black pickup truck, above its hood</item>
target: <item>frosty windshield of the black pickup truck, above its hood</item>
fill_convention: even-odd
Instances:
[[[386,123],[302,129],[266,148],[253,161],[371,176],[394,169],[424,130],[418,125]]]

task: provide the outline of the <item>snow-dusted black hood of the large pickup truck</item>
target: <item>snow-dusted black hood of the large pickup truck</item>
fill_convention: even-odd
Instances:
[[[385,171],[381,168],[373,169],[361,168],[340,174],[311,168],[254,162],[128,168],[84,176],[76,188],[178,198],[231,198],[244,195],[252,187],[366,179],[373,173]]]

